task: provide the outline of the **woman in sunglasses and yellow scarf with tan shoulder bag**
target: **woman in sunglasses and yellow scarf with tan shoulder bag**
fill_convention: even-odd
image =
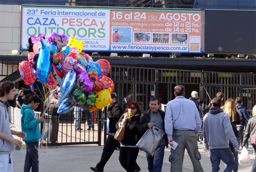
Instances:
[[[138,132],[138,123],[140,122],[141,110],[135,101],[128,104],[125,113],[116,123],[118,129],[126,122],[124,130],[124,139],[120,141],[119,162],[126,171],[135,171],[135,163],[139,148],[135,146],[140,140],[142,134]]]

